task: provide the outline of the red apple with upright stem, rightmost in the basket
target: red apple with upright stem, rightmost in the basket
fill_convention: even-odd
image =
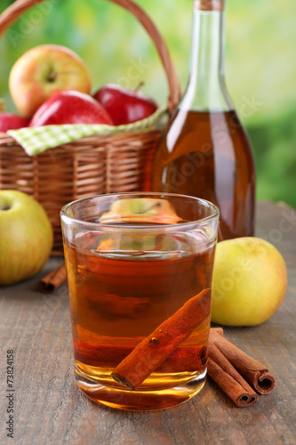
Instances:
[[[157,109],[156,102],[145,94],[119,85],[102,86],[93,97],[108,111],[115,125],[131,124],[151,116]]]

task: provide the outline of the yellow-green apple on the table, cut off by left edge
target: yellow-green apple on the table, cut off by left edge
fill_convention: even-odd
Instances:
[[[35,199],[0,190],[0,285],[32,277],[52,251],[52,224]]]

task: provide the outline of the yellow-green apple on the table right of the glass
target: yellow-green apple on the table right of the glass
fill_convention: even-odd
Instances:
[[[217,245],[212,286],[212,321],[255,326],[268,320],[284,299],[287,271],[268,241],[238,238]]]

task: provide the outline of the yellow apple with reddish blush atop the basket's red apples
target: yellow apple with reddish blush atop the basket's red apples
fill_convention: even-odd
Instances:
[[[91,78],[76,53],[57,44],[42,44],[15,62],[9,88],[20,113],[31,117],[53,93],[62,90],[90,93]]]

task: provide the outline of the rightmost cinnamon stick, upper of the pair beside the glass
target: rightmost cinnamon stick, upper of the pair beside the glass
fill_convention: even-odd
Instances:
[[[268,394],[276,384],[275,378],[270,376],[268,368],[259,361],[252,359],[234,344],[228,342],[224,336],[217,332],[210,332],[210,342],[215,344],[220,352],[236,368],[236,371],[260,394]]]

